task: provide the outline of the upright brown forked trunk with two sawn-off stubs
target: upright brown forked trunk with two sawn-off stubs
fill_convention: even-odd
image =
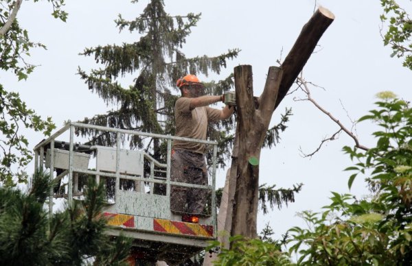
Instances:
[[[238,108],[238,162],[231,234],[254,238],[257,237],[260,150],[275,108],[282,69],[275,66],[269,68],[258,109],[255,109],[253,99],[252,67],[236,66],[234,76]]]

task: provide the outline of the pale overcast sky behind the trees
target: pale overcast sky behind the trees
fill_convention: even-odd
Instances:
[[[410,1],[398,2],[412,12]],[[62,23],[49,15],[52,12],[49,4],[23,1],[19,21],[28,29],[31,40],[44,43],[47,50],[31,52],[30,62],[40,66],[27,81],[16,82],[16,77],[1,73],[1,83],[5,88],[18,91],[38,114],[52,116],[58,128],[69,119],[78,121],[106,112],[111,107],[89,92],[76,75],[78,66],[85,70],[95,67],[93,58],[84,58],[78,53],[85,47],[138,40],[136,34],[119,34],[113,20],[119,13],[125,19],[134,19],[147,3],[148,0],[138,4],[126,0],[67,1],[65,10],[69,12],[69,19]],[[204,80],[227,77],[234,66],[251,64],[255,95],[260,95],[268,67],[277,65],[276,60],[281,55],[282,58],[287,55],[301,28],[312,16],[315,5],[323,5],[336,19],[304,69],[306,80],[324,88],[312,88],[312,97],[348,128],[352,128],[353,120],[374,108],[374,95],[382,90],[391,90],[407,100],[412,98],[411,71],[403,68],[398,58],[389,57],[389,47],[383,47],[378,0],[179,0],[165,1],[165,5],[170,14],[202,13],[201,21],[183,47],[187,57],[217,56],[232,48],[242,50],[221,75],[203,77]],[[350,174],[343,169],[351,162],[341,148],[353,145],[352,139],[341,134],[339,140],[325,145],[311,159],[302,158],[299,147],[310,153],[338,128],[312,104],[293,101],[294,97],[304,95],[289,95],[273,114],[275,124],[286,107],[293,108],[293,117],[286,132],[282,133],[281,143],[264,150],[260,162],[261,183],[284,188],[300,182],[305,184],[294,204],[259,215],[258,230],[270,223],[275,237],[280,237],[291,226],[302,226],[295,213],[319,211],[321,206],[328,204],[330,191],[348,192]],[[371,137],[373,131],[369,123],[356,127],[359,140],[367,147],[375,143]],[[43,138],[41,134],[27,133],[27,136],[30,149]],[[32,169],[27,170],[32,172]],[[225,182],[224,173],[222,170],[218,173],[218,187]],[[351,192],[358,196],[367,194],[362,178],[355,180]]]

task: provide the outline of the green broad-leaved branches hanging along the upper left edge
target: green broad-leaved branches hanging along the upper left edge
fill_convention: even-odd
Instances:
[[[65,21],[67,13],[62,10],[65,1],[48,1],[53,5],[52,15]],[[26,61],[30,50],[45,48],[45,45],[33,43],[27,30],[20,26],[17,14],[21,4],[21,0],[0,1],[0,71],[13,73],[18,80],[26,80],[36,67]],[[43,132],[47,136],[55,127],[50,117],[41,119],[20,99],[19,93],[0,84],[0,183],[7,186],[27,182],[27,174],[23,170],[32,160],[32,152],[27,149],[28,141],[21,134],[22,128]]]

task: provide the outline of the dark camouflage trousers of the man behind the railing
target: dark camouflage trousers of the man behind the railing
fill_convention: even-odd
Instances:
[[[184,149],[172,150],[170,180],[189,184],[207,185],[205,156]],[[173,213],[203,213],[207,201],[207,189],[171,186],[170,210]]]

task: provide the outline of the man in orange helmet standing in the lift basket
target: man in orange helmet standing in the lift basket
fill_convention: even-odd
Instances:
[[[206,140],[208,122],[228,119],[233,114],[233,107],[209,107],[224,102],[225,96],[205,95],[205,87],[195,75],[185,75],[177,80],[176,86],[182,95],[174,105],[176,136]],[[205,144],[174,140],[170,178],[174,182],[207,185]],[[172,213],[201,215],[207,190],[172,186],[170,197]]]

